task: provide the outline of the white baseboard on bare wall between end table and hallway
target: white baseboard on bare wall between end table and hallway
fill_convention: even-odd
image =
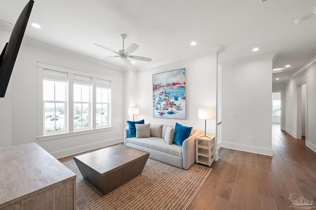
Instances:
[[[228,143],[228,142],[221,142],[220,144],[218,144],[218,148],[220,147],[227,148],[227,149],[240,150],[240,151],[245,151],[245,152],[251,152],[251,153],[256,153],[256,154],[261,154],[261,155],[273,156],[272,149],[267,149],[267,148],[262,148],[262,147],[253,147],[253,146],[233,144],[233,143]]]

